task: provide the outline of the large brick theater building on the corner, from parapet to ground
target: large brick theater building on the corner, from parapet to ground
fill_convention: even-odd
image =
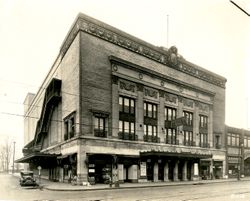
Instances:
[[[79,14],[25,110],[17,162],[79,183],[226,177],[225,84],[176,47]]]

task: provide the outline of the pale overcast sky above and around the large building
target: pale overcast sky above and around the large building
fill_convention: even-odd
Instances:
[[[0,140],[17,141],[17,152],[25,96],[37,92],[79,12],[153,45],[175,45],[227,78],[226,124],[250,127],[250,17],[229,0],[0,0]]]

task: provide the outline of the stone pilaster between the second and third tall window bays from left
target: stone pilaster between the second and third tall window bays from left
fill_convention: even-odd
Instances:
[[[166,143],[166,135],[165,135],[165,98],[164,98],[164,92],[160,91],[160,103],[158,106],[158,137],[160,138],[161,143]]]

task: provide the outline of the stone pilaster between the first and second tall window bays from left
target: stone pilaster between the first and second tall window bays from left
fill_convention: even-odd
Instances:
[[[137,84],[137,100],[136,100],[136,134],[138,140],[143,141],[143,121],[144,121],[144,106],[143,106],[143,85]]]

